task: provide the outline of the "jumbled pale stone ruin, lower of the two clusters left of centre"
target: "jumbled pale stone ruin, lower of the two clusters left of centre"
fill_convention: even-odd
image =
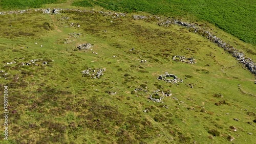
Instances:
[[[105,68],[98,68],[98,69],[93,69],[93,68],[88,68],[86,70],[82,70],[82,77],[91,77],[92,79],[100,79],[101,76],[103,76],[103,71],[106,71]]]

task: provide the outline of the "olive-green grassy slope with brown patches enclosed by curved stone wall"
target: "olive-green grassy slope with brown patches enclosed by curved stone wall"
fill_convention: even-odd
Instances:
[[[67,12],[0,19],[1,95],[8,85],[11,115],[9,141],[1,135],[1,143],[227,143],[229,135],[236,143],[254,142],[248,134],[255,133],[254,76],[206,38],[159,27],[155,18]],[[86,42],[92,51],[77,51]],[[197,63],[173,61],[174,55]],[[33,59],[38,66],[21,64]],[[100,79],[82,77],[88,68],[106,71]],[[157,80],[165,71],[184,83]],[[173,95],[154,103],[147,97],[157,89]]]

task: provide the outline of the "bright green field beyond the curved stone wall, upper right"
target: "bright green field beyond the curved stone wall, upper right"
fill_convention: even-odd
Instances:
[[[256,3],[252,1],[78,1],[73,6],[103,8],[133,12],[143,11],[165,16],[184,17],[190,20],[206,20],[241,40],[256,45]],[[195,18],[197,17],[197,18]],[[253,19],[254,18],[254,19]]]

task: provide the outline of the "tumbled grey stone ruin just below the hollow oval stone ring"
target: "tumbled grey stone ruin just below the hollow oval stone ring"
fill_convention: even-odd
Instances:
[[[170,90],[168,90],[167,92],[163,92],[157,89],[152,92],[152,94],[150,95],[150,97],[148,97],[148,99],[150,99],[153,102],[163,103],[162,100],[164,99],[164,97],[170,97],[171,95],[172,93]]]

